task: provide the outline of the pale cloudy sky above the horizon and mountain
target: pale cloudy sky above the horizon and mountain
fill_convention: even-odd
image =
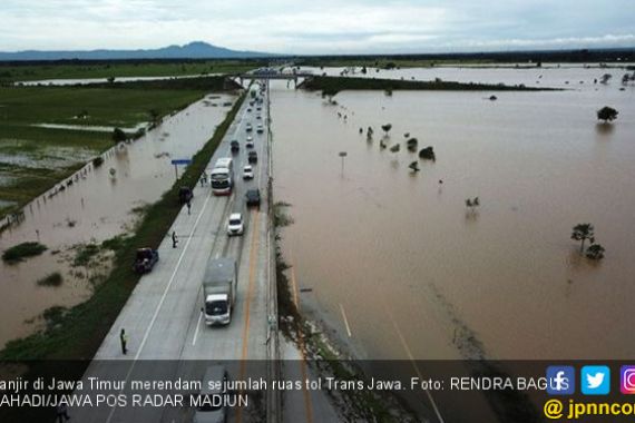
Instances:
[[[635,47],[635,0],[0,1],[0,51],[190,41],[295,55]]]

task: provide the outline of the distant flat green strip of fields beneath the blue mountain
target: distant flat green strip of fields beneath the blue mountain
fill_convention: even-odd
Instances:
[[[183,75],[235,73],[265,66],[262,60],[205,61],[110,61],[50,62],[40,65],[0,63],[0,85],[8,81],[46,79],[167,77]]]

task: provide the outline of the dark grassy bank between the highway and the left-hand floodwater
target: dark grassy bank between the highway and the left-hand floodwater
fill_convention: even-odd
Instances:
[[[130,266],[139,246],[158,247],[180,210],[176,200],[178,187],[194,186],[234,120],[243,97],[217,127],[214,136],[194,156],[180,179],[152,205],[135,235],[120,240],[115,256],[114,270],[96,288],[90,299],[66,312],[52,327],[22,340],[11,341],[0,352],[0,360],[90,358],[101,344],[108,329],[136,286],[139,276]],[[84,372],[79,370],[78,372]]]

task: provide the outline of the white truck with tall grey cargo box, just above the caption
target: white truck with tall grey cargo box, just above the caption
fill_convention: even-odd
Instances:
[[[236,260],[209,260],[203,278],[203,313],[207,325],[229,324],[236,302],[237,283]]]

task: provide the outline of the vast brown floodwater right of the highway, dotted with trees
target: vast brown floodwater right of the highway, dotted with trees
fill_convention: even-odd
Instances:
[[[303,306],[362,357],[632,358],[635,87],[619,86],[497,101],[343,91],[330,106],[273,83],[274,188],[292,204],[283,249]],[[595,117],[605,105],[619,110],[609,126]],[[399,153],[380,149],[388,122]],[[437,161],[408,153],[404,132]],[[570,239],[587,222],[599,263]]]

